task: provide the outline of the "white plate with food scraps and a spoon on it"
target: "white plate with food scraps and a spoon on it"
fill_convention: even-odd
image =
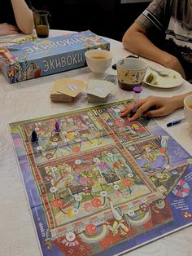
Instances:
[[[147,68],[146,75],[144,77],[143,82],[145,82],[146,85],[159,87],[159,88],[172,88],[172,87],[181,86],[183,82],[183,78],[181,77],[181,74],[170,68],[165,68],[165,69],[168,70],[169,72],[167,76],[160,76],[159,73],[157,73],[155,70],[151,68]],[[150,73],[153,73],[156,76],[157,84],[153,85],[149,82],[146,82],[146,77],[148,77]]]

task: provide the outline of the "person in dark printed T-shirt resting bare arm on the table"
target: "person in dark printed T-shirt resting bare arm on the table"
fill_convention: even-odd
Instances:
[[[192,2],[154,0],[124,33],[128,51],[192,78]]]

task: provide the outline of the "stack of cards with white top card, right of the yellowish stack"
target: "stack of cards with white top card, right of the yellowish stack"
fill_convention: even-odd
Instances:
[[[112,90],[115,89],[112,82],[105,80],[89,80],[87,85],[87,99],[89,103],[105,103]]]

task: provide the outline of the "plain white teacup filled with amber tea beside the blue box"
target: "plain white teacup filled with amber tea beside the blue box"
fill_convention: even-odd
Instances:
[[[104,77],[112,61],[111,51],[94,49],[85,52],[86,63],[94,77]]]

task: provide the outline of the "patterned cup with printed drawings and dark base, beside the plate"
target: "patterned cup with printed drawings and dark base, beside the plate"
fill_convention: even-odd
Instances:
[[[124,58],[116,64],[118,84],[123,90],[133,90],[135,86],[141,86],[148,65],[144,60],[136,58]]]

